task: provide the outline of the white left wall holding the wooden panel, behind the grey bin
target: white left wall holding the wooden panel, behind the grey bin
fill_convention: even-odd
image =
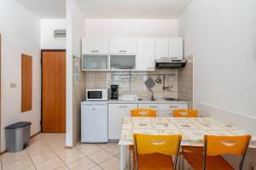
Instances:
[[[2,115],[1,151],[5,150],[4,127],[11,123],[32,122],[31,135],[40,132],[41,65],[40,20],[14,0],[0,0],[2,34]],[[21,54],[32,55],[32,111],[20,113]],[[9,88],[14,82],[17,88]]]

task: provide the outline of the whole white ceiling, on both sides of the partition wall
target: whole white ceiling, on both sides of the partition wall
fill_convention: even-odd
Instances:
[[[41,19],[66,18],[66,0],[16,0]],[[74,0],[85,18],[176,19],[191,0]]]

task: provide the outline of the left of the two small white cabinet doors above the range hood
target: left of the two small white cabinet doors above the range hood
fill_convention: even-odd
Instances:
[[[168,59],[168,37],[155,38],[155,59]]]

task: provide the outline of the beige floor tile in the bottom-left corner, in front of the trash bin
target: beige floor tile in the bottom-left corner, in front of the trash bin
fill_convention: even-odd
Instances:
[[[3,164],[3,170],[21,170],[32,166],[33,163],[31,159],[29,157],[26,157],[18,161],[12,161],[7,164]]]

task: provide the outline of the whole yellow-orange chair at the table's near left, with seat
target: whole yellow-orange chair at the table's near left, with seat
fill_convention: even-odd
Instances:
[[[182,136],[135,134],[137,170],[176,169]],[[175,162],[172,156],[176,156]]]

